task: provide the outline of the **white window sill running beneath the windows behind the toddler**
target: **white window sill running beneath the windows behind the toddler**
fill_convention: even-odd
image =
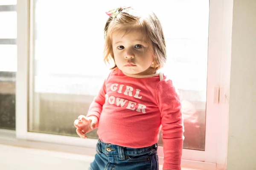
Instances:
[[[81,167],[84,168],[84,166],[89,166],[90,162],[93,161],[94,159],[94,155],[96,154],[95,148],[85,148],[81,146],[73,146],[66,144],[54,144],[47,142],[17,139],[14,130],[1,129],[0,150],[3,150],[3,152],[1,153],[6,153],[8,151],[7,156],[5,154],[1,155],[0,153],[0,158],[3,157],[3,159],[9,159],[9,161],[14,160],[15,156],[20,156],[19,154],[22,154],[21,156],[23,156],[24,159],[22,159],[23,161],[19,161],[19,164],[28,164],[29,167],[27,168],[31,169],[35,169],[37,166],[41,166],[42,162],[44,164],[47,164],[47,166],[49,164],[55,166],[55,164],[57,163],[53,162],[53,159],[57,160],[57,162],[65,162],[65,164],[61,163],[61,166],[63,167],[60,167],[60,164],[58,164],[58,169],[61,168],[64,170],[67,167],[77,167],[80,165]],[[33,157],[33,164],[26,162],[31,161],[29,159],[26,159],[27,157],[30,156]],[[162,159],[162,161],[160,160],[161,164],[161,162],[163,162],[163,158],[160,157],[160,159]],[[8,162],[8,160],[6,160],[6,162]],[[44,166],[44,164],[42,164],[42,166]],[[181,164],[182,170],[216,170],[216,164],[212,163],[182,160]],[[160,165],[160,170],[162,170],[162,167],[163,165]]]

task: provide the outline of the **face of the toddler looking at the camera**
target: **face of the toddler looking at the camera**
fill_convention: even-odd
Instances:
[[[113,54],[117,67],[126,74],[150,75],[154,56],[151,46],[143,42],[143,32],[115,31],[112,34]]]

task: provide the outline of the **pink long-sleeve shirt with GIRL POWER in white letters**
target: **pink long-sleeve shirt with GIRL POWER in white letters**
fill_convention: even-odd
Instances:
[[[90,105],[87,116],[99,119],[103,142],[124,147],[148,147],[163,130],[163,169],[180,170],[183,116],[172,81],[159,74],[129,77],[115,68]]]

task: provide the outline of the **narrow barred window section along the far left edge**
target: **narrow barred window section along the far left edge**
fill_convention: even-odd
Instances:
[[[0,0],[0,128],[10,130],[15,130],[16,23],[16,1]]]

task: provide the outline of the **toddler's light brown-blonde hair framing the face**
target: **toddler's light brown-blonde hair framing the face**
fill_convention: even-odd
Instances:
[[[115,61],[112,47],[113,31],[128,32],[133,28],[139,28],[145,33],[144,40],[150,44],[154,55],[152,67],[155,70],[162,68],[166,62],[166,42],[161,23],[154,12],[138,12],[133,8],[124,9],[115,17],[108,18],[104,29],[104,62],[109,63],[111,60]],[[111,69],[113,68],[116,68],[116,63]]]

